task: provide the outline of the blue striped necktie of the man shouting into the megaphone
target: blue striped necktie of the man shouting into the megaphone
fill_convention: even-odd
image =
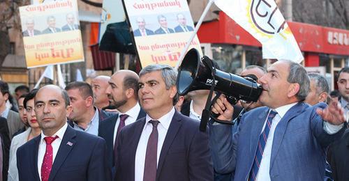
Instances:
[[[257,177],[258,170],[260,168],[260,162],[262,161],[263,152],[265,148],[265,144],[267,143],[268,134],[270,131],[270,127],[272,127],[272,120],[276,116],[276,111],[270,111],[267,119],[267,124],[265,125],[265,128],[260,134],[260,140],[258,141],[257,151],[255,152],[255,158],[253,161],[252,169],[250,172],[249,180],[254,181]]]

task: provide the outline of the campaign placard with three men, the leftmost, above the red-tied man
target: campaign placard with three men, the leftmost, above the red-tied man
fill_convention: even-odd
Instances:
[[[20,7],[27,68],[84,61],[77,1]]]

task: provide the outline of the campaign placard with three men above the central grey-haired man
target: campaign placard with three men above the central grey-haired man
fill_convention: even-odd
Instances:
[[[194,31],[187,1],[128,0],[124,4],[142,67],[154,63],[174,67]],[[191,48],[202,54],[197,36]]]

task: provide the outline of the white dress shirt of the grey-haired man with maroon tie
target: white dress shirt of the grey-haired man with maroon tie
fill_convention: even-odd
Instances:
[[[174,112],[174,107],[172,107],[170,112],[166,113],[163,117],[158,119],[160,123],[158,123],[158,152],[156,165],[158,164],[158,158],[160,157],[161,149],[163,148],[163,141],[165,141],[166,134],[168,133],[168,127],[170,127]],[[151,131],[153,130],[153,125],[149,123],[149,120],[155,119],[151,118],[147,114],[147,116],[145,117],[144,128],[142,134],[140,135],[140,141],[138,142],[138,147],[135,152],[135,181],[143,181],[147,144]]]

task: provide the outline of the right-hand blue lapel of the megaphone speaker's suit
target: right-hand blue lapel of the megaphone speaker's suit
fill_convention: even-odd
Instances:
[[[276,126],[272,144],[272,157],[270,157],[270,168],[272,168],[275,157],[279,152],[279,148],[281,142],[283,141],[283,136],[285,135],[288,121],[290,121],[292,118],[295,118],[295,116],[298,116],[303,109],[303,103],[298,103],[295,106],[291,107],[291,109],[286,112],[285,116],[283,116],[279,124]]]

